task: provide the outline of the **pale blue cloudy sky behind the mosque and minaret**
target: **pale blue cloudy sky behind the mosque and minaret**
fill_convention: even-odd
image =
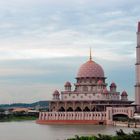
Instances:
[[[0,104],[52,99],[76,82],[90,47],[108,88],[134,100],[139,9],[139,0],[1,0]]]

